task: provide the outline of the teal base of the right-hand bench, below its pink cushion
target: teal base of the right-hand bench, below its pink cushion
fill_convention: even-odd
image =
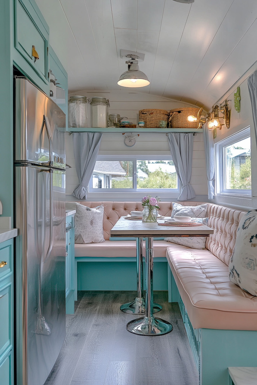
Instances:
[[[257,367],[257,331],[194,329],[172,274],[170,283],[169,301],[180,307],[200,385],[230,385],[228,367]]]

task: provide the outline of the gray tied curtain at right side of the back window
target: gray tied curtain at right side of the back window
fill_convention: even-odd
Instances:
[[[193,134],[168,134],[170,152],[182,189],[178,201],[195,198],[195,191],[191,186],[193,159]]]

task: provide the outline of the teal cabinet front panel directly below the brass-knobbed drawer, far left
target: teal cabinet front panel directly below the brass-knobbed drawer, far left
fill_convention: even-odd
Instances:
[[[12,341],[12,291],[11,283],[0,289],[0,357]],[[1,378],[1,377],[0,377]]]

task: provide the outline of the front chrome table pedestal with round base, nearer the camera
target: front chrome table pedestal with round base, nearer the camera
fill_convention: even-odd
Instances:
[[[153,316],[153,238],[146,238],[146,316],[130,321],[126,328],[145,336],[166,334],[173,328],[168,321]]]

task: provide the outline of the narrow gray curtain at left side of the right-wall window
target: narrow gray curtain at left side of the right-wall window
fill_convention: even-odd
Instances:
[[[215,156],[213,131],[208,130],[205,124],[203,124],[203,142],[208,179],[208,199],[213,199],[215,186]]]

